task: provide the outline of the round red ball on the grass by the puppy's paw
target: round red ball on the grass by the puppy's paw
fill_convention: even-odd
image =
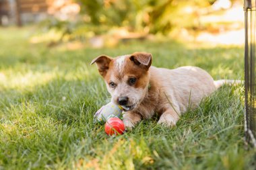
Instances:
[[[125,132],[125,125],[119,118],[109,118],[105,124],[105,132],[108,135],[119,135]]]

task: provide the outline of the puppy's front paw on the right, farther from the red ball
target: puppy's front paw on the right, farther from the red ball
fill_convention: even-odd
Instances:
[[[176,113],[172,108],[166,110],[158,120],[158,124],[163,124],[164,126],[175,126],[179,120],[179,113]]]

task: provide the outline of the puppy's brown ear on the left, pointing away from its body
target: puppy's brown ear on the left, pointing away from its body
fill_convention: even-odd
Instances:
[[[98,67],[98,72],[100,73],[100,75],[102,75],[102,77],[104,77],[106,75],[106,72],[108,71],[109,63],[112,60],[113,59],[110,58],[109,56],[101,55],[94,58],[91,62],[91,65],[94,64],[94,62],[96,62],[96,65]]]

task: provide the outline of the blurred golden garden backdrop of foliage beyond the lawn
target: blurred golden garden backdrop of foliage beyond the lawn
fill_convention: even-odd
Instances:
[[[156,38],[244,43],[238,0],[0,0],[0,26],[26,27],[30,43],[71,49]]]

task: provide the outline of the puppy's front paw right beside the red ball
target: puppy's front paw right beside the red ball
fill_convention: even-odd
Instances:
[[[125,129],[131,130],[135,124],[141,121],[141,116],[135,112],[127,112],[123,114],[123,124],[125,124]]]

